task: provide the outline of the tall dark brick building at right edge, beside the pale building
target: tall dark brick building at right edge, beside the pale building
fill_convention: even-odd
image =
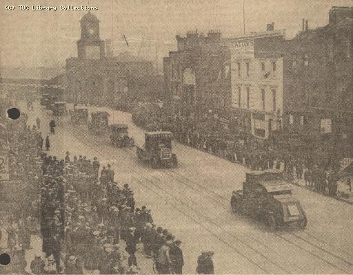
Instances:
[[[353,8],[332,7],[329,23],[283,43],[281,143],[329,164],[353,155]]]

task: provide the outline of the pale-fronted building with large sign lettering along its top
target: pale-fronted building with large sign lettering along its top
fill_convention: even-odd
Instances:
[[[252,32],[224,39],[231,52],[232,117],[236,130],[267,140],[283,115],[284,30]]]

